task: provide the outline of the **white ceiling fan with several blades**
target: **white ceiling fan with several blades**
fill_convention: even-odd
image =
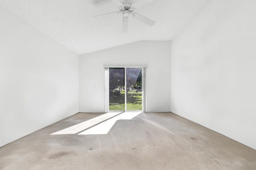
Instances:
[[[144,24],[147,24],[148,26],[153,26],[155,24],[153,20],[150,20],[149,18],[146,18],[145,16],[142,16],[134,12],[135,9],[140,8],[141,6],[144,6],[149,2],[152,2],[153,0],[112,0],[112,1],[119,6],[119,11],[110,12],[107,14],[102,14],[94,17],[101,18],[103,16],[113,16],[113,15],[123,14],[122,33],[128,32],[129,14],[131,14],[133,18],[139,20],[140,22],[143,22]],[[134,6],[136,8],[134,8]]]

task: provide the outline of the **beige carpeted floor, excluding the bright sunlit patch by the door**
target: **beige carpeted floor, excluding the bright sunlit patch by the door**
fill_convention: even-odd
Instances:
[[[108,134],[50,135],[100,115],[78,113],[0,147],[0,169],[256,170],[256,150],[173,113],[119,120]]]

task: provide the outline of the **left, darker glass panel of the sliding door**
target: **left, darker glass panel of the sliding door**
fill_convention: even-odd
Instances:
[[[109,68],[109,111],[124,111],[124,68]]]

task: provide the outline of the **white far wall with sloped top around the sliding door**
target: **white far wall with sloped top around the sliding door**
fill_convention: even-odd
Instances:
[[[103,65],[148,65],[148,112],[170,111],[170,42],[142,41],[79,57],[79,111],[104,112]]]

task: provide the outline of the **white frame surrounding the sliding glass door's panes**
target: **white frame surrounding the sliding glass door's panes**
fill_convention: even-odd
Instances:
[[[109,68],[124,68],[124,74],[126,77],[126,68],[142,68],[142,112],[146,112],[146,70],[147,65],[104,65],[104,97],[105,97],[105,113],[109,112]],[[126,78],[124,79],[125,90],[126,89]],[[124,102],[125,102],[125,112],[134,112],[134,111],[126,111],[126,93],[124,93]],[[120,111],[112,111],[112,112],[120,112]]]

